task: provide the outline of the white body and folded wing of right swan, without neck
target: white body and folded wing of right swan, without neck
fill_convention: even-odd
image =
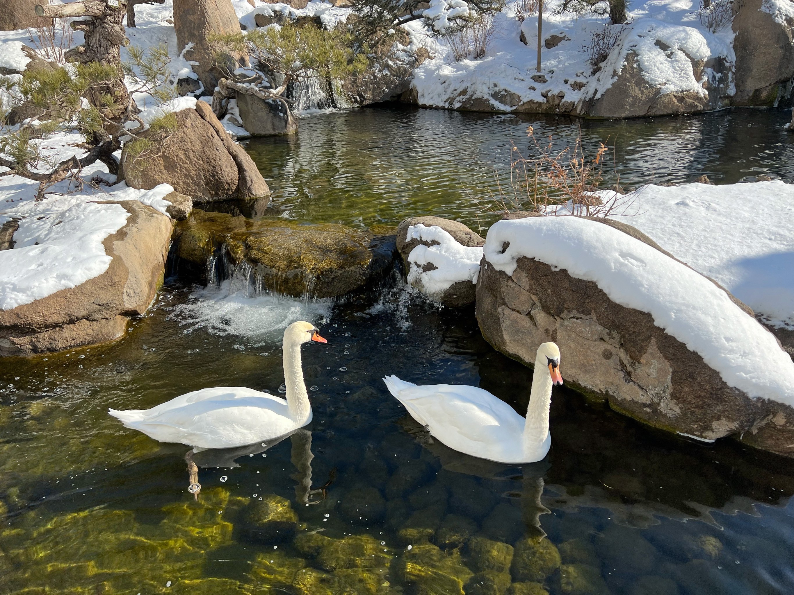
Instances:
[[[393,377],[392,377],[393,378]],[[395,382],[398,380],[398,382]],[[520,461],[524,418],[477,386],[414,386],[389,378],[389,390],[411,417],[457,451],[484,459]]]

